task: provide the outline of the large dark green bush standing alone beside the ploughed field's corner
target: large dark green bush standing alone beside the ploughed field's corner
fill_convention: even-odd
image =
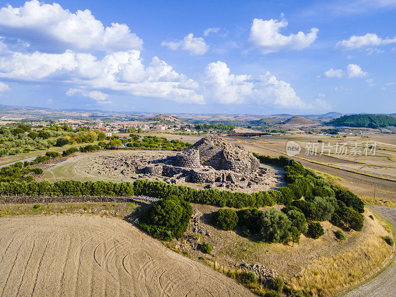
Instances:
[[[181,238],[187,231],[193,208],[190,203],[176,196],[153,203],[140,214],[140,226],[158,239]]]

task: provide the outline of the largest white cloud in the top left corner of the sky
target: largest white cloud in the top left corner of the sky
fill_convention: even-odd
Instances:
[[[131,50],[143,45],[126,24],[104,27],[88,9],[72,13],[57,3],[38,0],[1,8],[0,34],[24,39],[41,51],[54,50],[53,47],[58,51]]]

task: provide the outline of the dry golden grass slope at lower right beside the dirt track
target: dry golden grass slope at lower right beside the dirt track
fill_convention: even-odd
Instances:
[[[385,221],[372,220],[370,214],[365,211],[366,236],[358,245],[335,257],[321,256],[291,280],[292,286],[304,288],[314,297],[331,296],[377,273],[393,251],[383,239],[392,233]]]

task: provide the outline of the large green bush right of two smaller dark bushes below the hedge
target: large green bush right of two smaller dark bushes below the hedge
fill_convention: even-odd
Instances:
[[[292,222],[282,211],[271,208],[259,219],[261,237],[267,243],[288,243],[291,237]]]

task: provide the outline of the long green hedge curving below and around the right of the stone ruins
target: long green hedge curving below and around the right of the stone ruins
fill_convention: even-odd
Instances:
[[[48,157],[48,156],[46,156]],[[265,160],[271,164],[283,165],[286,171],[287,187],[282,187],[279,191],[269,190],[253,194],[233,193],[231,191],[219,191],[217,189],[197,190],[182,185],[169,185],[164,182],[137,180],[128,184],[128,190],[121,191],[118,188],[120,184],[112,182],[95,182],[88,181],[85,183],[79,181],[58,181],[54,184],[49,182],[33,182],[31,184],[21,183],[2,183],[0,185],[0,194],[28,194],[40,192],[43,194],[54,193],[60,195],[145,195],[155,198],[166,198],[177,196],[189,202],[212,204],[220,207],[228,206],[235,208],[243,207],[263,207],[274,204],[290,205],[293,200],[299,200],[304,197],[310,201],[315,197],[335,197],[338,201],[345,203],[358,212],[363,212],[364,203],[356,195],[348,190],[331,185],[328,181],[318,177],[313,171],[304,168],[300,162],[289,159],[284,156],[271,158],[269,156],[258,156],[260,160]],[[41,185],[45,185],[41,187]],[[31,186],[32,185],[32,186]],[[38,186],[36,186],[38,185]],[[95,189],[92,189],[95,185]],[[100,186],[96,186],[100,185]],[[43,190],[30,190],[30,187],[43,188]],[[125,193],[124,193],[125,192]],[[97,194],[98,193],[98,194]]]

